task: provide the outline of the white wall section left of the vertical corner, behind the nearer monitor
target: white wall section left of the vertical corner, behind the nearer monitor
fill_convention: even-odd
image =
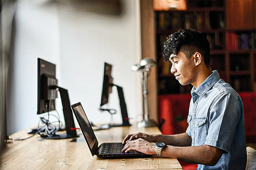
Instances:
[[[29,128],[39,122],[37,116],[38,57],[57,65],[56,77],[60,80],[57,7],[45,6],[36,1],[18,0],[14,23],[14,49],[9,63],[6,116],[8,134]]]

